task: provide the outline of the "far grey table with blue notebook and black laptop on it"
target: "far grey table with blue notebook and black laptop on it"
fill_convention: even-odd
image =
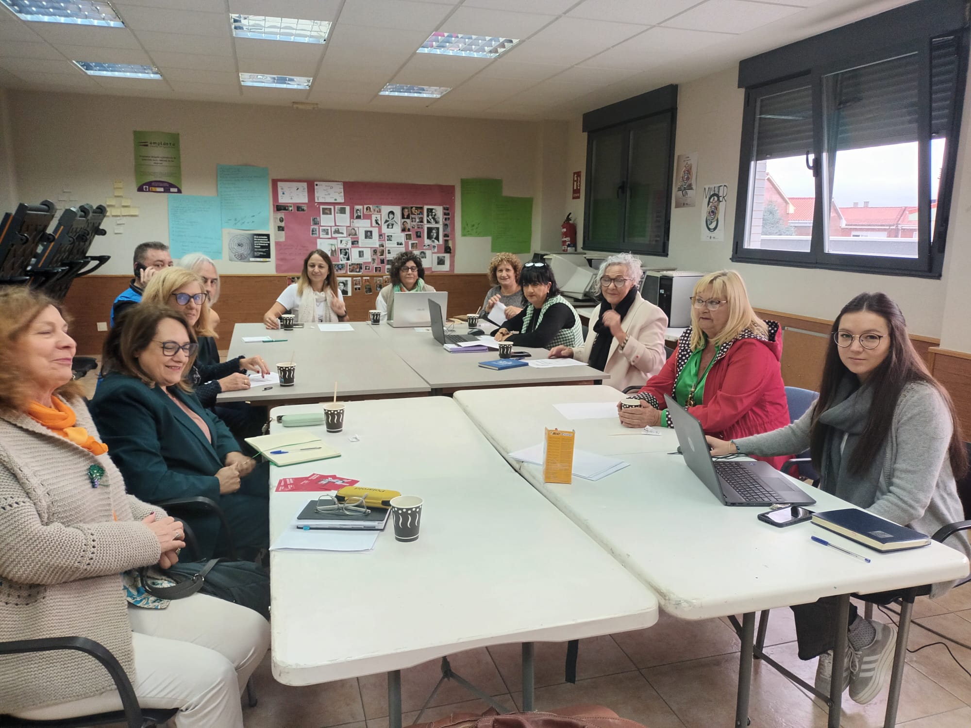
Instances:
[[[386,323],[374,327],[375,333],[392,351],[404,359],[422,380],[431,387],[432,394],[444,390],[475,389],[478,387],[518,386],[522,384],[562,384],[582,381],[606,381],[610,375],[586,365],[539,369],[519,367],[502,372],[479,366],[481,361],[499,358],[495,350],[473,353],[450,353],[435,341],[428,329],[394,328]],[[465,325],[455,327],[455,333],[464,334]],[[545,348],[516,347],[528,351],[529,359],[547,359],[550,352]]]

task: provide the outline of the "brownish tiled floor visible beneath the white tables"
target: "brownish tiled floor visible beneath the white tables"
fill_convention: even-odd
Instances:
[[[971,584],[934,602],[921,598],[911,632],[911,648],[940,640],[925,624],[971,645]],[[791,612],[775,610],[767,645],[770,654],[812,680],[815,662],[796,657]],[[878,614],[879,616],[879,614]],[[971,670],[971,650],[951,644]],[[729,728],[734,724],[739,642],[726,620],[686,622],[662,615],[651,629],[584,640],[578,680],[563,680],[566,645],[536,648],[538,710],[578,703],[608,706],[649,728]],[[499,645],[450,656],[452,669],[485,689],[505,706],[519,706],[519,645]],[[907,677],[897,725],[907,728],[969,728],[971,678],[940,645],[907,656]],[[415,720],[439,677],[438,662],[402,673],[405,723]],[[386,728],[385,676],[347,679],[310,687],[286,687],[270,671],[270,657],[256,673],[259,705],[246,709],[247,728]],[[454,711],[483,711],[482,701],[447,683],[422,720]],[[868,706],[844,697],[842,725],[883,725],[884,694]],[[826,714],[799,687],[756,663],[752,696],[753,728],[822,728]]]

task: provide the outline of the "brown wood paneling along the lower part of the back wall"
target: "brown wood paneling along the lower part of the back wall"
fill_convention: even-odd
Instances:
[[[372,285],[378,279],[380,277],[371,277]],[[97,323],[108,320],[112,303],[129,280],[129,276],[88,276],[71,286],[64,305],[74,318],[71,334],[78,342],[79,354],[101,353],[107,333],[98,331]],[[289,281],[286,276],[221,276],[221,280],[222,289],[215,309],[220,318],[219,347],[226,348],[233,326],[262,321],[263,314]],[[452,315],[479,311],[489,288],[485,274],[479,273],[426,273],[425,282],[437,290],[449,292],[449,314]],[[367,320],[368,311],[375,307],[377,297],[375,292],[364,293],[363,286],[361,290],[352,290],[352,295],[346,299],[351,320]]]

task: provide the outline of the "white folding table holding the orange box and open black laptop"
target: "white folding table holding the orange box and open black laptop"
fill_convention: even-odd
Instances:
[[[530,387],[456,392],[454,401],[507,456],[526,480],[566,513],[591,538],[658,595],[666,612],[685,619],[743,613],[742,653],[736,725],[748,721],[752,678],[755,612],[842,596],[849,609],[852,593],[906,589],[966,577],[967,559],[949,546],[932,543],[910,551],[869,551],[811,523],[779,529],[755,518],[762,509],[727,508],[674,452],[675,434],[657,428],[659,436],[627,435],[616,418],[569,420],[553,408],[570,402],[616,402],[622,395],[609,386]],[[508,457],[542,441],[544,427],[575,429],[575,447],[616,455],[630,467],[591,482],[574,477],[572,484],[543,481],[542,468]],[[800,483],[818,503],[814,510],[851,504]],[[615,504],[605,508],[605,499]],[[866,551],[867,564],[835,549],[814,544],[810,534],[856,552]],[[677,547],[672,547],[677,546]],[[663,554],[663,557],[660,555]],[[904,603],[891,680],[887,720],[895,717],[902,677],[910,610]],[[846,630],[839,630],[834,655],[845,650]],[[834,657],[833,675],[842,673]],[[899,667],[899,670],[896,668]],[[840,691],[831,697],[829,725],[839,725]],[[889,723],[892,726],[892,722]]]

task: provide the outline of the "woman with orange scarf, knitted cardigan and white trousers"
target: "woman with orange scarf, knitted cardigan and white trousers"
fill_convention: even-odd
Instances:
[[[75,348],[50,299],[0,290],[0,642],[93,640],[144,707],[179,708],[180,728],[242,728],[240,689],[269,625],[204,594],[146,594],[138,570],[156,579],[151,567],[177,562],[183,525],[125,491],[72,381]],[[0,657],[5,713],[54,720],[120,705],[108,673],[73,650]]]

